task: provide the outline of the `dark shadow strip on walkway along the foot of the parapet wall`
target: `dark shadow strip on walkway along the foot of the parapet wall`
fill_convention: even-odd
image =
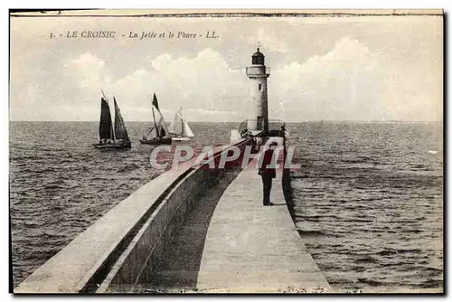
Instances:
[[[226,170],[221,181],[217,181],[200,196],[197,205],[188,212],[182,225],[174,232],[164,250],[165,256],[159,260],[158,267],[149,278],[150,283],[137,285],[136,292],[168,292],[176,288],[195,290],[212,214],[222,193],[239,173],[238,168]]]

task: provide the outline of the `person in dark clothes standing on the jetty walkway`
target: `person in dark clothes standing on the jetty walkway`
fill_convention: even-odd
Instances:
[[[262,177],[262,185],[263,185],[263,203],[264,205],[273,205],[270,203],[270,192],[271,192],[271,183],[273,178],[277,176],[276,173],[276,162],[277,159],[273,159],[273,154],[275,152],[275,148],[278,146],[277,142],[272,142],[268,146],[268,150],[266,150],[259,160],[259,172],[258,174]]]

